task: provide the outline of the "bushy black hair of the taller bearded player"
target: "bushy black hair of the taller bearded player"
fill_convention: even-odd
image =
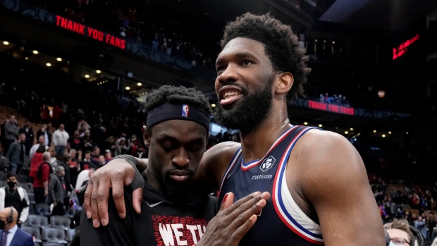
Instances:
[[[276,72],[293,74],[294,82],[287,94],[288,100],[304,96],[304,84],[311,68],[307,67],[308,56],[305,55],[305,49],[300,47],[299,40],[289,25],[281,23],[269,13],[262,16],[245,13],[226,25],[220,42],[221,49],[236,37],[261,42],[273,69]]]

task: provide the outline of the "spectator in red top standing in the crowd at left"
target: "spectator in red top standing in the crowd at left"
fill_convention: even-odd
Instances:
[[[49,195],[49,176],[52,173],[50,165],[50,153],[42,154],[42,163],[37,165],[35,173],[30,173],[33,180],[33,192],[35,193],[35,202],[45,202]]]

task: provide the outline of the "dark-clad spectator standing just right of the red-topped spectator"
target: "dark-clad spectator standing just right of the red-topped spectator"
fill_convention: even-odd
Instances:
[[[65,213],[63,207],[67,198],[66,182],[64,176],[66,172],[63,166],[56,166],[55,172],[50,174],[49,183],[49,204],[53,204],[51,215],[62,215]]]

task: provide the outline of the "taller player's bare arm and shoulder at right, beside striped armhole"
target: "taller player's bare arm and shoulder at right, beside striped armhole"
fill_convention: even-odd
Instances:
[[[336,133],[307,134],[297,157],[300,187],[316,210],[325,245],[385,245],[381,216],[357,149]]]

